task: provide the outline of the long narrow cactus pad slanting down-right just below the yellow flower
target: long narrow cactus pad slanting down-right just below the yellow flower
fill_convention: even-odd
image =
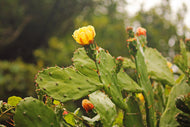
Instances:
[[[112,101],[121,109],[125,109],[126,103],[123,101],[121,89],[117,79],[115,59],[104,49],[99,48],[96,56],[96,64],[99,70],[101,82],[104,90]]]

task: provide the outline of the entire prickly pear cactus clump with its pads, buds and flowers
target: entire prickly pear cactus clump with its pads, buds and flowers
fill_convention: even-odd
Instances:
[[[98,47],[95,35],[92,26],[75,31],[73,38],[83,48],[74,52],[73,65],[49,67],[36,75],[38,99],[25,98],[16,106],[10,105],[15,109],[15,126],[179,125],[175,120],[175,98],[190,93],[188,82],[184,82],[188,81],[188,73],[181,72],[175,81],[167,60],[146,46],[143,28],[136,34],[132,27],[127,28],[131,60],[115,58]],[[135,70],[135,80],[124,71],[129,67]],[[78,106],[75,111],[69,110],[75,101],[81,104],[82,99],[85,110]]]

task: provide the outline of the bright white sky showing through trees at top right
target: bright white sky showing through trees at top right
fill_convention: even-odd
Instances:
[[[127,11],[131,15],[135,15],[140,10],[140,6],[144,3],[144,10],[148,11],[150,8],[161,3],[162,0],[126,0],[128,5]],[[190,0],[170,0],[171,9],[175,15],[179,8],[182,8],[183,3],[187,5],[187,14],[185,15],[185,24],[190,28]]]

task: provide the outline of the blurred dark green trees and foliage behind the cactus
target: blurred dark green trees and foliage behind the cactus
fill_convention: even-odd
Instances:
[[[125,28],[147,29],[148,46],[169,61],[179,52],[179,40],[190,29],[184,24],[187,5],[176,14],[171,0],[131,16],[127,0],[0,0],[0,100],[35,96],[35,74],[49,66],[69,66],[80,47],[75,29],[93,25],[95,41],[117,56],[128,56]],[[133,10],[131,10],[133,11]]]

